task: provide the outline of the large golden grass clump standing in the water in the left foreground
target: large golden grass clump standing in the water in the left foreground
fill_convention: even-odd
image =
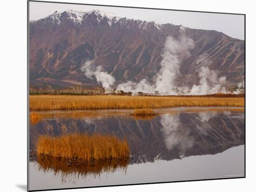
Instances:
[[[126,140],[120,140],[114,135],[40,135],[37,141],[37,155],[83,161],[118,159],[129,156],[129,147]]]

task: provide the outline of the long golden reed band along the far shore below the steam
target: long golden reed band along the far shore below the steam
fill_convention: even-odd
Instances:
[[[135,109],[168,107],[243,107],[244,97],[210,96],[29,96],[29,109]]]

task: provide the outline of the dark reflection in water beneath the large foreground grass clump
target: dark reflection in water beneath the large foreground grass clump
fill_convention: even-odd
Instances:
[[[62,184],[67,182],[75,184],[78,179],[100,177],[102,173],[113,173],[117,170],[123,170],[126,173],[129,159],[99,160],[85,163],[82,161],[72,162],[61,158],[39,156],[37,161],[39,171],[44,173],[52,172],[55,176],[61,177]]]

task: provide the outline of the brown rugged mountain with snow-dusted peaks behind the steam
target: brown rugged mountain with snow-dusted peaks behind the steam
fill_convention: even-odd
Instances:
[[[180,85],[198,83],[196,73],[202,65],[227,77],[230,86],[244,79],[244,41],[222,32],[120,18],[99,10],[55,12],[30,21],[29,31],[31,85],[99,86],[81,70],[88,60],[114,76],[115,84],[145,77],[154,81],[166,38],[178,39],[181,34],[193,39],[195,46],[189,55],[179,55]],[[202,56],[207,62],[198,62]]]

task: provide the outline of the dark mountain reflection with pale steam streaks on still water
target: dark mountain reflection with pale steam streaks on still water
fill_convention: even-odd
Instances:
[[[121,115],[107,118],[47,118],[30,126],[30,147],[39,134],[115,134],[127,138],[130,163],[181,159],[216,154],[244,144],[243,111],[196,111],[167,113],[151,120]]]

